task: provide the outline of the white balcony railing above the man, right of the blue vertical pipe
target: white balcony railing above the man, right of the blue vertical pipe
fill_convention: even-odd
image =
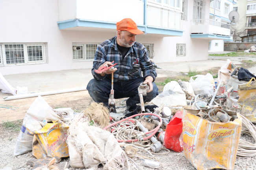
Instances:
[[[148,26],[182,30],[182,13],[148,5]]]

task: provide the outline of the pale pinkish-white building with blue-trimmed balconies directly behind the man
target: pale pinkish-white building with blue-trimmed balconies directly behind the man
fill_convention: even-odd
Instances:
[[[211,22],[209,10],[210,0],[3,0],[0,72],[92,68],[98,44],[123,18],[145,32],[136,41],[153,62],[206,60],[209,40],[231,38],[229,24]]]

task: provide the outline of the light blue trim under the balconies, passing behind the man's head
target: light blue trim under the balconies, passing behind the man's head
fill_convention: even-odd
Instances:
[[[98,20],[86,20],[86,19],[72,19],[57,22],[59,29],[66,29],[72,27],[96,27],[96,28],[108,28],[108,29],[117,29],[116,22],[105,22]],[[161,35],[173,35],[173,36],[182,36],[183,30],[177,29],[168,29],[162,27],[152,27],[145,25],[137,25],[138,29],[141,31],[147,31],[151,34],[161,34]]]

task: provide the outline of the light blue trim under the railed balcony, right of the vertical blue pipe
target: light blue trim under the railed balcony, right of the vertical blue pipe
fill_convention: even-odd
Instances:
[[[173,36],[182,36],[183,30],[176,30],[176,29],[162,29],[157,27],[149,27],[147,28],[148,34],[162,34],[162,35],[173,35]]]

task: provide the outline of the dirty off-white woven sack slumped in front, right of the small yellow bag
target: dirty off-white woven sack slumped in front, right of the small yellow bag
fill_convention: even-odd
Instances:
[[[126,168],[126,154],[112,133],[89,126],[89,117],[83,114],[76,115],[69,126],[68,144],[72,141],[76,151],[82,155],[82,161],[80,156],[70,155],[70,165],[73,165],[71,161],[76,158],[77,163],[83,163],[90,170],[96,170],[100,163],[104,165],[104,170]]]

